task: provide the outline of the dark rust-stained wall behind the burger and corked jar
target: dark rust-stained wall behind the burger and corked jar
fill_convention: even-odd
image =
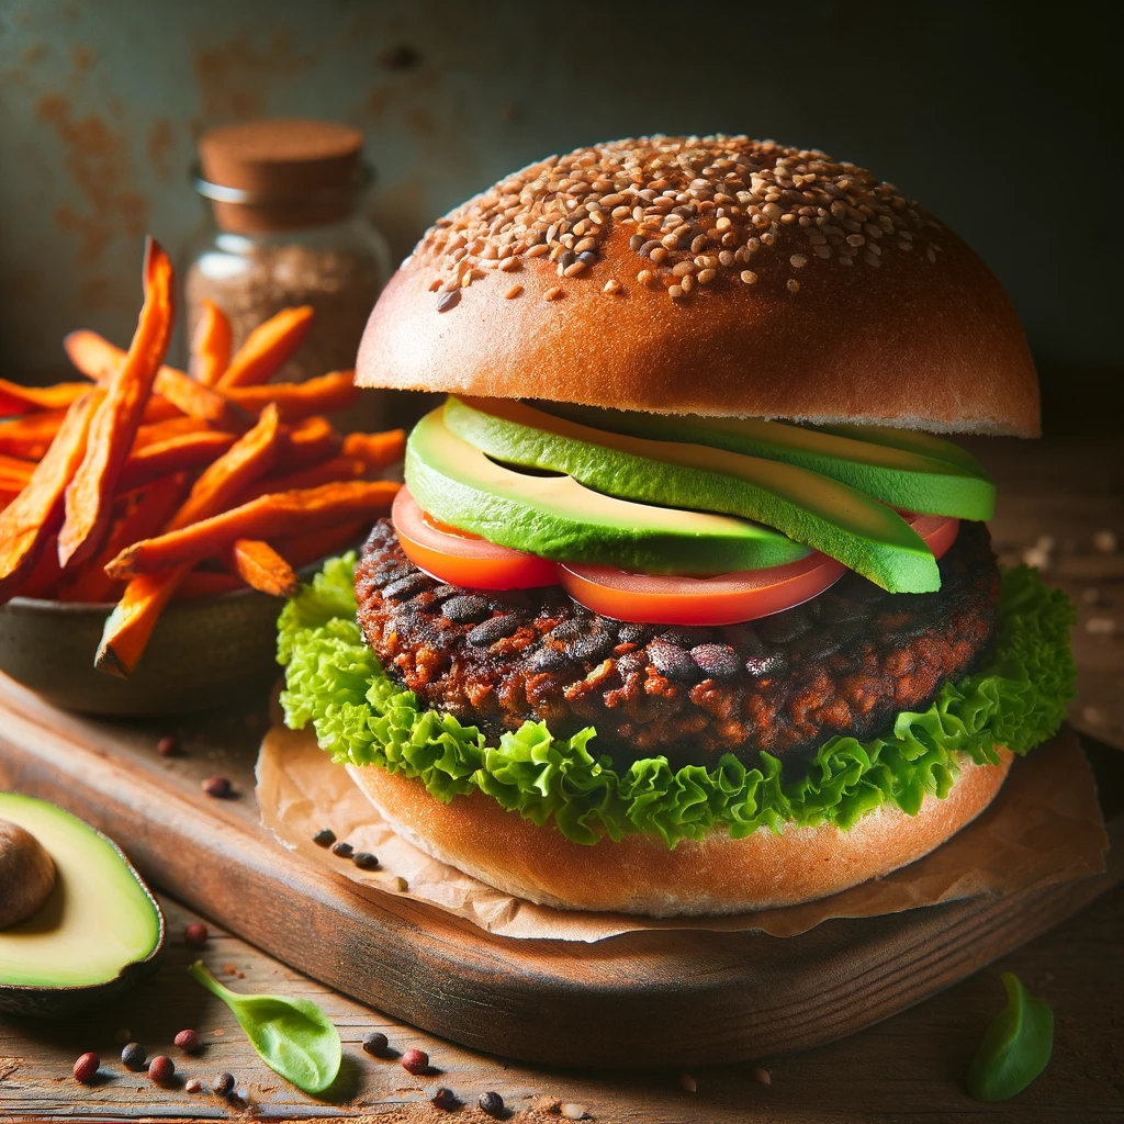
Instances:
[[[198,133],[350,121],[396,255],[502,173],[593,139],[744,132],[922,200],[1007,287],[1048,400],[1115,390],[1120,36],[1109,4],[0,0],[0,364],[125,342],[140,243],[201,217]]]

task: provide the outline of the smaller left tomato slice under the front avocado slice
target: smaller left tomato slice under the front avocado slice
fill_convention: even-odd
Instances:
[[[390,517],[402,553],[438,581],[469,589],[558,584],[553,562],[438,523],[418,507],[405,488],[398,489]]]

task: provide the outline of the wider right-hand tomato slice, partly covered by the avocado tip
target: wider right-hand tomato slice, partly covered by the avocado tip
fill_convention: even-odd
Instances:
[[[955,542],[958,519],[907,516],[935,558]],[[818,597],[846,573],[815,553],[787,565],[716,578],[629,573],[613,566],[560,564],[565,591],[587,609],[617,620],[659,625],[731,625],[781,613]]]

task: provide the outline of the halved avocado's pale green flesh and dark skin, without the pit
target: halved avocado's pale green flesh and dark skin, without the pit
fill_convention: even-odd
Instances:
[[[115,843],[46,800],[0,792],[0,818],[55,867],[42,908],[0,930],[0,1010],[57,1017],[111,999],[156,967],[164,916]]]

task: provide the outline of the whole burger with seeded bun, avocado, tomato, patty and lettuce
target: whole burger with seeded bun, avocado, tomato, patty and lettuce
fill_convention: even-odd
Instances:
[[[579,148],[438,219],[363,387],[447,397],[285,608],[311,724],[407,840],[572,909],[834,894],[979,815],[1072,695],[949,434],[1039,433],[982,262],[890,183],[744,136]]]

